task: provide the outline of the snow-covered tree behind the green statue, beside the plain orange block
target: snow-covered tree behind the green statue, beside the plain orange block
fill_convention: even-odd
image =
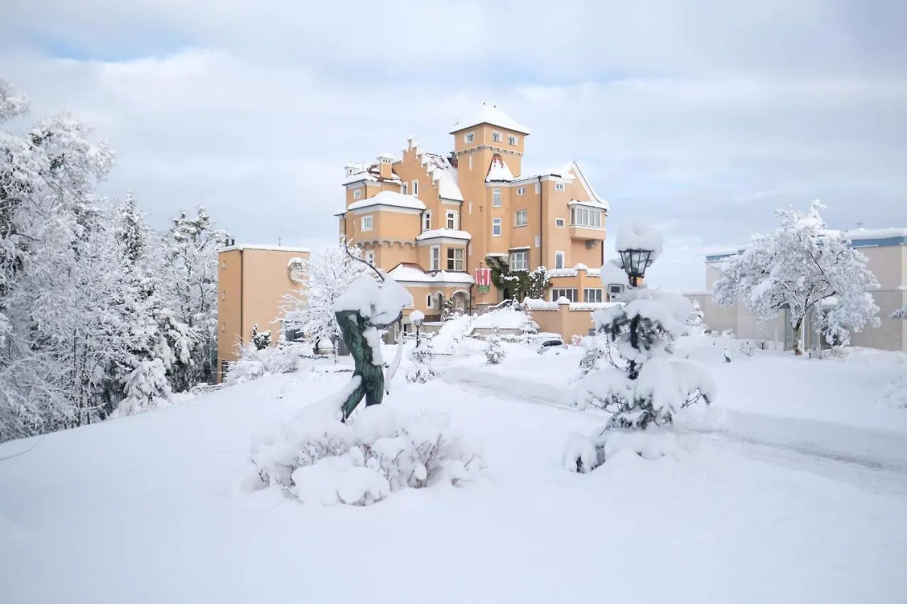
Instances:
[[[362,250],[349,248],[354,258],[362,258]],[[302,333],[302,339],[313,348],[323,339],[340,336],[334,302],[360,275],[372,274],[366,263],[350,258],[343,244],[320,248],[308,258],[302,258],[300,270],[308,276],[307,287],[295,295],[284,296],[283,321]]]

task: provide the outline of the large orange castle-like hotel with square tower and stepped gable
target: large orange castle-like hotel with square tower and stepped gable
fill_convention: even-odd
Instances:
[[[576,162],[523,174],[530,131],[492,105],[450,133],[447,154],[410,139],[399,156],[347,164],[340,235],[407,287],[426,320],[437,319],[442,296],[464,311],[501,301],[500,290],[482,291],[473,278],[488,257],[511,269],[549,268],[552,299],[603,301],[608,202]]]

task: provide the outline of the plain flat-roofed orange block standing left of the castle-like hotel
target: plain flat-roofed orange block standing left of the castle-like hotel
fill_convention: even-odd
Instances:
[[[290,258],[307,258],[308,252],[275,249],[229,249],[219,254],[218,266],[218,373],[223,361],[239,358],[238,346],[249,342],[252,326],[271,330],[271,342],[280,339],[284,294],[301,287],[290,281]]]

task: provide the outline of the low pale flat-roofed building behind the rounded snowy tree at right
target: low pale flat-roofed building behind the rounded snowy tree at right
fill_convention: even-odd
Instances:
[[[907,352],[907,321],[892,319],[892,313],[907,305],[907,229],[853,229],[844,231],[851,247],[858,248],[869,260],[867,266],[879,281],[873,291],[875,304],[881,308],[879,327],[866,327],[851,334],[852,346]],[[717,262],[733,256],[744,247],[706,257],[706,291],[689,294],[702,307],[705,321],[717,331],[732,329],[737,337],[765,340],[785,349],[793,345],[790,319],[787,312],[779,313],[774,321],[759,325],[756,317],[742,305],[718,307],[712,302],[712,286],[717,281]],[[812,326],[805,326],[805,346],[820,346],[820,338]],[[823,345],[825,346],[825,345]]]

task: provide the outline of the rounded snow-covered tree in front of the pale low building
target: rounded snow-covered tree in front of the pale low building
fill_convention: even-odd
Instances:
[[[803,326],[812,311],[820,333],[846,345],[851,331],[879,325],[879,307],[870,292],[879,287],[866,257],[848,247],[837,231],[826,229],[814,201],[809,212],[777,210],[779,229],[753,237],[741,254],[717,266],[715,302],[742,302],[760,321],[789,309],[794,351],[803,354]]]

